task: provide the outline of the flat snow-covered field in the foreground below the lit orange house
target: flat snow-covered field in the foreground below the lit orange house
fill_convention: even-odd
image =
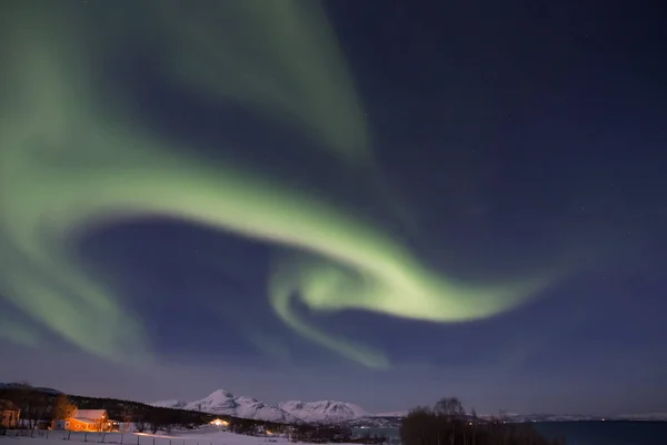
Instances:
[[[0,435],[0,445],[56,445],[62,441],[91,444],[123,445],[287,445],[287,437],[255,437],[222,431],[199,431],[172,434],[146,433],[79,433],[63,431],[36,431],[34,437],[17,436],[16,432]],[[340,444],[345,445],[345,444]]]

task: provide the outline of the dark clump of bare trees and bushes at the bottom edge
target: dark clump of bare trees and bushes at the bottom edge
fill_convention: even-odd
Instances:
[[[548,441],[530,424],[481,419],[466,414],[457,398],[444,398],[432,408],[418,407],[400,427],[402,445],[563,445]]]

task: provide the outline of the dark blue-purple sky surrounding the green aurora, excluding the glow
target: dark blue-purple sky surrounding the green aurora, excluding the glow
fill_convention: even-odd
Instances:
[[[468,324],[297,308],[395,364],[372,370],[276,317],[266,295],[271,246],[173,220],[123,222],[87,234],[79,249],[122,285],[158,364],[104,362],[56,335],[36,347],[0,339],[0,382],[137,400],[225,388],[371,412],[442,396],[478,413],[667,411],[664,14],[648,3],[556,3],[346,0],[328,10],[374,149],[419,234],[388,224],[437,270],[469,281],[538,264],[583,264],[576,274]],[[201,156],[272,159],[260,167],[381,215],[367,185],[329,162],[309,158],[303,168],[298,150],[276,158],[266,148],[303,145],[298,136],[175,92],[145,57],[148,43],[131,39],[119,83],[166,137],[248,141],[246,152]],[[2,298],[1,312],[26,316]]]

